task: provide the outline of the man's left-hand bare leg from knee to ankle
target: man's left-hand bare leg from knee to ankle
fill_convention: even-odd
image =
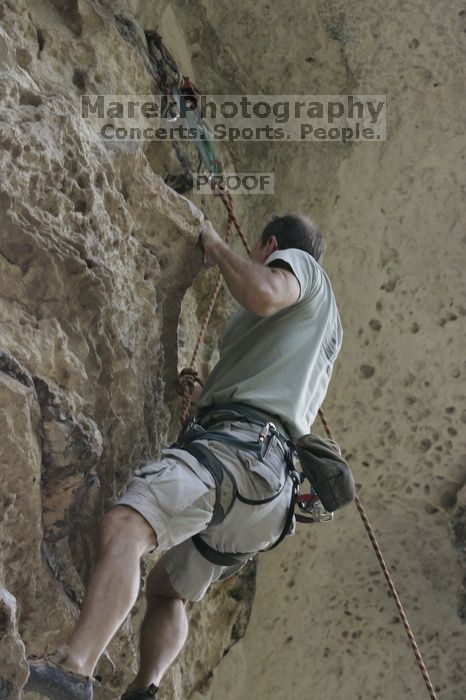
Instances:
[[[136,602],[139,560],[156,544],[152,527],[129,506],[115,506],[103,518],[97,559],[63,668],[92,676],[100,655]]]

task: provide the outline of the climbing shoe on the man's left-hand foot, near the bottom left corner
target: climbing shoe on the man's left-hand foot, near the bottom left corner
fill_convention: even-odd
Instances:
[[[56,652],[29,660],[29,678],[24,690],[45,695],[51,700],[92,700],[97,678],[66,671],[59,663],[66,659],[69,647],[63,645]]]

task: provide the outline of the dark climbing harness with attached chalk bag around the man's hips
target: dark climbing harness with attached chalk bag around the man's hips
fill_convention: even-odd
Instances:
[[[184,370],[183,376],[185,375],[186,370]],[[257,459],[265,463],[271,449],[275,445],[279,446],[284,458],[286,476],[292,481],[292,492],[288,517],[281,536],[270,547],[272,549],[293,530],[294,518],[304,523],[329,522],[333,520],[334,511],[353,501],[356,493],[351,470],[341,457],[341,453],[333,445],[312,433],[303,436],[294,444],[292,440],[286,437],[284,430],[278,430],[275,423],[268,420],[269,417],[278,422],[278,419],[268,416],[250,405],[238,403],[214,404],[200,409],[196,418],[193,416],[189,417],[181,429],[176,442],[170,447],[181,447],[190,452],[212,474],[216,486],[216,502],[213,516],[209,523],[210,527],[222,522],[233,506],[235,498],[253,506],[274,500],[285,487],[286,478],[283,481],[282,489],[272,497],[264,497],[260,500],[247,499],[238,493],[235,480],[228,469],[222,466],[208,448],[202,447],[200,449],[201,446],[197,442],[200,440],[222,442],[240,450],[250,451]],[[249,428],[256,426],[257,439],[239,439],[229,431],[221,430],[225,420],[228,419],[246,421]],[[215,427],[217,427],[217,430],[214,429]],[[295,469],[294,452],[299,457],[303,469],[302,473],[297,472]],[[224,476],[221,476],[222,468]],[[309,480],[311,490],[309,493],[301,494],[299,493],[299,488],[305,478]],[[225,508],[225,502],[228,504],[227,508]],[[295,515],[296,505],[306,515]],[[195,535],[193,541],[199,549],[198,545],[203,542],[203,538],[201,535]],[[209,550],[204,548],[202,553],[213,563],[219,561],[218,553],[212,548],[209,548]],[[253,555],[253,552],[249,552],[241,554],[241,557],[246,560]],[[222,552],[222,560],[231,561],[232,565],[236,563],[239,557],[238,553],[227,554]]]

